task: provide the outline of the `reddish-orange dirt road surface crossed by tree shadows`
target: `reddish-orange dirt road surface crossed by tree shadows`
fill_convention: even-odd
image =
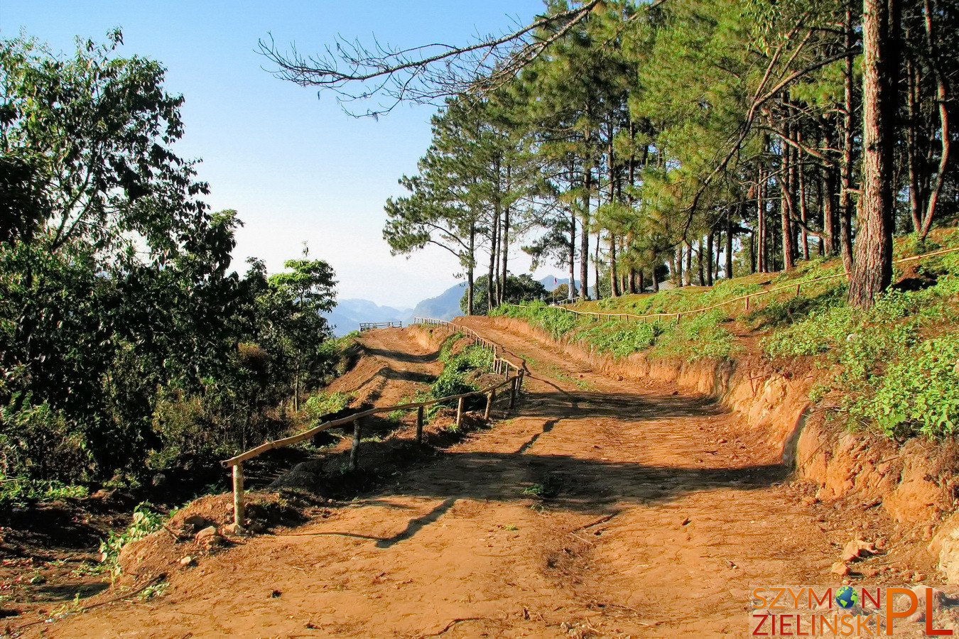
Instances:
[[[854,533],[832,534],[734,415],[708,398],[596,375],[481,319],[468,324],[528,360],[511,419],[332,516],[173,570],[162,597],[42,632],[746,636],[751,586],[839,582],[829,574],[835,543]],[[403,373],[389,376],[384,397],[437,371],[407,331],[363,340]],[[524,492],[533,485],[558,494],[539,500]]]

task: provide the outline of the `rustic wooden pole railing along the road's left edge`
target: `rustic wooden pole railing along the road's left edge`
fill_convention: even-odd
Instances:
[[[517,365],[515,362],[510,361],[509,359],[501,356],[501,353],[504,351],[503,347],[492,342],[471,329],[468,329],[463,326],[459,326],[452,322],[446,322],[444,320],[434,320],[432,318],[426,317],[417,317],[414,319],[414,323],[418,324],[430,324],[435,326],[440,326],[448,331],[461,332],[467,338],[473,340],[475,344],[479,344],[484,348],[490,349],[493,352],[493,370],[497,373],[503,374],[503,381],[488,386],[479,391],[471,391],[469,393],[461,393],[459,395],[451,395],[445,398],[439,399],[430,399],[428,401],[413,401],[405,404],[397,404],[394,406],[377,406],[364,410],[360,413],[355,413],[354,415],[349,415],[347,417],[339,418],[338,420],[332,420],[330,422],[323,422],[317,424],[313,428],[309,428],[302,432],[291,435],[290,437],[285,437],[279,440],[273,440],[266,442],[264,444],[250,448],[239,455],[231,457],[227,460],[223,460],[222,465],[226,468],[232,468],[233,473],[233,521],[238,527],[243,526],[244,514],[245,514],[245,502],[244,502],[244,472],[243,464],[247,460],[253,459],[268,450],[273,450],[274,448],[282,448],[285,446],[290,446],[298,444],[304,440],[310,439],[317,433],[321,433],[324,430],[329,430],[331,428],[336,428],[338,426],[343,426],[349,423],[353,424],[353,444],[350,447],[350,469],[356,470],[359,468],[359,455],[360,455],[360,442],[363,435],[363,419],[372,417],[380,413],[391,413],[396,410],[411,410],[416,409],[416,443],[421,444],[423,442],[423,423],[425,421],[424,409],[427,406],[432,406],[433,404],[443,403],[447,401],[452,401],[456,399],[456,427],[459,427],[462,423],[464,404],[466,398],[470,397],[481,397],[485,396],[486,404],[483,410],[483,420],[489,420],[490,410],[492,409],[493,402],[496,400],[497,391],[501,388],[508,386],[509,387],[509,408],[508,410],[513,410],[516,406],[516,399],[518,398],[520,392],[523,390],[523,378],[526,375],[526,362]]]

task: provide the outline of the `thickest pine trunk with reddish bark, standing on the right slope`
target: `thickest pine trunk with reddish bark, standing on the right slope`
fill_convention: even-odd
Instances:
[[[862,199],[850,304],[871,308],[892,281],[893,153],[899,73],[899,0],[863,0]]]

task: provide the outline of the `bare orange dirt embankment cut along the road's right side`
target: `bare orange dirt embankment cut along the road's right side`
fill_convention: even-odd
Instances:
[[[865,432],[849,432],[812,410],[809,390],[817,370],[795,372],[776,367],[759,355],[736,360],[682,361],[643,354],[614,358],[583,344],[553,340],[525,321],[496,317],[492,326],[555,344],[577,361],[607,375],[676,384],[705,393],[735,411],[760,445],[782,455],[798,476],[819,486],[816,497],[835,500],[855,495],[881,507],[911,533],[926,540],[936,536],[956,510],[959,477],[952,445],[919,439],[897,444]],[[959,525],[959,524],[957,524]],[[938,551],[936,539],[933,550]]]

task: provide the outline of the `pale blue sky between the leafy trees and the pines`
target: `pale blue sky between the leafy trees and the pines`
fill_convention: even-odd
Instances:
[[[433,107],[351,118],[332,95],[317,100],[316,90],[273,78],[255,52],[257,38],[295,41],[301,53],[320,51],[337,34],[375,34],[397,46],[461,43],[525,23],[542,8],[541,0],[3,0],[0,36],[22,29],[70,51],[76,35],[102,41],[121,27],[121,55],[161,61],[167,89],[186,98],[186,135],[176,148],[202,159],[207,201],[236,209],[246,223],[235,268],[256,256],[279,270],[305,240],[311,257],[337,270],[340,297],[411,307],[457,282],[456,261],[442,249],[393,258],[381,237],[386,197],[403,194],[397,178],[416,170],[430,143]],[[513,270],[528,265],[518,249],[510,260]]]

